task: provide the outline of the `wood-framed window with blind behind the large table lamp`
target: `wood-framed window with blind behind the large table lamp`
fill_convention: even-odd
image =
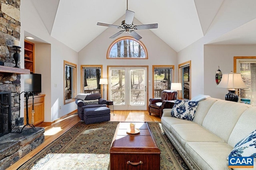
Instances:
[[[256,57],[234,57],[234,72],[240,72],[248,88],[240,89],[240,98],[250,99],[256,106]]]

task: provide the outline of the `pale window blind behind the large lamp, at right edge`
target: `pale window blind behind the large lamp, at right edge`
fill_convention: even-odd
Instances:
[[[241,89],[241,98],[251,100],[251,105],[256,106],[256,63],[240,63],[240,73],[247,89]]]

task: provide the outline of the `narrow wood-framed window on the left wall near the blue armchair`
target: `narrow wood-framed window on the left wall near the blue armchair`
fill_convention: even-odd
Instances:
[[[64,104],[74,101],[76,96],[76,64],[64,61]]]

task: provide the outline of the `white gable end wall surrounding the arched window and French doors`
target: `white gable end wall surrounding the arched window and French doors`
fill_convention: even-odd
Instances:
[[[124,20],[122,16],[114,25],[120,25],[121,21]],[[134,18],[134,25],[140,25],[141,23]],[[100,26],[99,26],[100,27]],[[100,34],[96,39],[89,43],[84,49],[78,53],[78,63],[80,65],[93,65],[102,64],[103,78],[107,78],[107,66],[140,66],[147,65],[148,78],[151,81],[148,87],[149,98],[152,98],[152,65],[177,65],[177,53],[170,46],[164,43],[160,38],[158,38],[150,30],[137,30],[136,32],[142,36],[140,41],[145,45],[148,51],[148,59],[106,59],[106,53],[108,47],[115,39],[110,39],[109,37],[120,31],[116,28],[107,28],[102,34]],[[130,36],[128,33],[122,33],[119,37]],[[116,38],[116,39],[117,39]],[[175,71],[175,79],[178,72]],[[80,72],[79,76],[80,77]],[[80,84],[79,84],[80,86]],[[79,88],[80,89],[80,88]],[[105,94],[106,96],[106,90]]]

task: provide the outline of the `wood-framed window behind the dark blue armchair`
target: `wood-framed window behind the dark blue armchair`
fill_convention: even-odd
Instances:
[[[101,93],[102,65],[82,65],[81,68],[81,92]]]

